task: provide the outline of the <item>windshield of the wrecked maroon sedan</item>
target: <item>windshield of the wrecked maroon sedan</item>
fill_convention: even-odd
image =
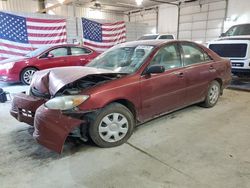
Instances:
[[[146,45],[116,46],[95,58],[87,66],[130,74],[139,69],[153,48]]]

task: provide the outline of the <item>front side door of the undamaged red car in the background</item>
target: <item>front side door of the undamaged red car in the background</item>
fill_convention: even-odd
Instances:
[[[68,56],[68,47],[53,48],[39,57],[39,67],[40,69],[47,69],[69,66]]]

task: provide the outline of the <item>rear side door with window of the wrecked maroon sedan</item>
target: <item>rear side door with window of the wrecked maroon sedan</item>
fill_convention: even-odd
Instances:
[[[209,83],[216,77],[213,60],[198,45],[181,42],[184,74],[187,81],[187,104],[204,99]]]

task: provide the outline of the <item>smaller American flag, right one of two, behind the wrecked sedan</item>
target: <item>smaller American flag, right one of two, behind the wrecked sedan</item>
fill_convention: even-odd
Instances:
[[[98,23],[82,18],[84,45],[103,52],[126,41],[125,22]]]

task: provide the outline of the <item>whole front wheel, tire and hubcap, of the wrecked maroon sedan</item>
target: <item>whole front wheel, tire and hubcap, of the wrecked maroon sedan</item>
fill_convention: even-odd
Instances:
[[[104,107],[91,120],[89,135],[100,147],[114,147],[125,143],[135,126],[131,111],[119,103]]]

